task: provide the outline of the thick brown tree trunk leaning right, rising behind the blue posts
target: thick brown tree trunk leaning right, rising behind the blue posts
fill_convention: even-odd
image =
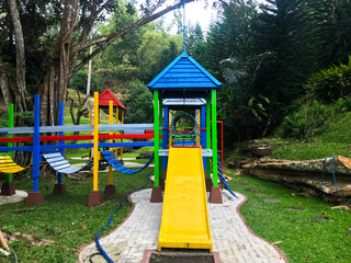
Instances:
[[[38,91],[42,125],[57,124],[58,104],[66,100],[70,46],[77,16],[78,0],[65,0],[64,15],[53,61]]]

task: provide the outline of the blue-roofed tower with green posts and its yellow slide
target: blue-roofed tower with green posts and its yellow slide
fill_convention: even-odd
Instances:
[[[155,103],[151,202],[162,202],[161,190],[167,179],[159,251],[162,248],[212,251],[206,192],[210,203],[222,204],[216,119],[216,93],[220,85],[185,52],[148,84]],[[190,128],[182,130],[178,127],[182,123]]]

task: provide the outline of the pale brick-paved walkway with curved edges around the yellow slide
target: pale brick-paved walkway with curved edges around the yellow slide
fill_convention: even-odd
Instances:
[[[132,215],[112,233],[100,240],[100,244],[114,262],[140,262],[145,250],[157,250],[162,204],[150,204],[150,190],[132,194],[131,199],[135,203]],[[282,252],[254,236],[245,225],[238,207],[246,202],[246,197],[236,194],[239,198],[234,198],[224,191],[223,204],[208,204],[213,250],[219,252],[223,263],[285,262]],[[101,226],[105,220],[107,218],[102,219]],[[88,263],[89,255],[97,252],[95,243],[83,248],[79,262]],[[92,262],[104,263],[105,260],[95,255]]]

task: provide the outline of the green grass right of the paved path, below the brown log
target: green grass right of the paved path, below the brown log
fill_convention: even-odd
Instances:
[[[228,171],[233,175],[233,171]],[[234,191],[248,196],[240,211],[256,235],[269,242],[278,242],[290,263],[347,263],[351,259],[351,211],[331,209],[332,205],[318,198],[302,197],[295,191],[276,183],[256,178],[234,176],[229,182]],[[239,185],[248,180],[249,186]],[[260,192],[248,192],[257,187]],[[256,194],[269,194],[272,197],[257,197]],[[279,204],[267,204],[263,199],[278,198]],[[303,207],[305,210],[291,210],[284,207]],[[328,216],[335,220],[315,221],[314,216]]]

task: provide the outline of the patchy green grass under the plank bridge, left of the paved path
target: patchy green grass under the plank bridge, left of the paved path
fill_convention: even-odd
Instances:
[[[146,169],[141,173],[123,175],[115,173],[116,195],[103,196],[104,203],[97,207],[88,207],[89,193],[92,190],[92,178],[86,181],[64,181],[67,194],[52,194],[55,180],[41,179],[39,190],[44,195],[44,204],[24,206],[23,202],[0,206],[0,229],[11,232],[33,235],[36,239],[54,241],[48,245],[30,247],[24,240],[16,240],[10,247],[19,255],[20,262],[75,262],[77,250],[84,243],[92,242],[98,231],[106,224],[110,215],[118,206],[120,198],[145,183],[145,175],[152,171]],[[103,192],[107,183],[107,174],[99,174],[99,187]],[[32,182],[25,178],[15,181],[16,188],[31,191]],[[151,186],[151,183],[147,187]],[[111,226],[103,232],[109,233],[129,213],[131,204],[124,203],[114,216]],[[0,254],[0,262],[12,262]]]

